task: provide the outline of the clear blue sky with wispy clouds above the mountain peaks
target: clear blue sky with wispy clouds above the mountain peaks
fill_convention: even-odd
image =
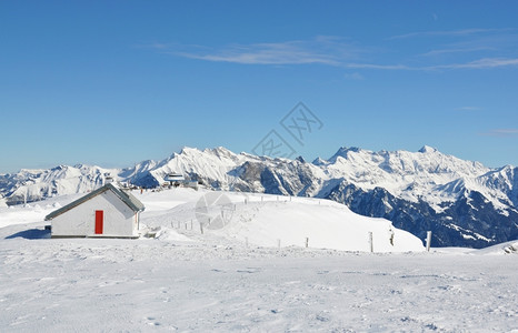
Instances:
[[[517,16],[516,1],[1,1],[0,173],[252,152],[272,130],[307,160],[428,144],[518,165]],[[297,141],[281,120],[299,102],[321,127]]]

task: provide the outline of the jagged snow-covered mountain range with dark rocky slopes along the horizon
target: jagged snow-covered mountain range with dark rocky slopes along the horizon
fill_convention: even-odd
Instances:
[[[517,168],[490,169],[430,147],[418,152],[340,148],[313,162],[185,148],[126,169],[60,165],[1,174],[0,194],[8,203],[31,202],[91,191],[107,175],[153,188],[171,172],[212,189],[331,199],[421,239],[431,230],[434,246],[484,248],[518,239]]]

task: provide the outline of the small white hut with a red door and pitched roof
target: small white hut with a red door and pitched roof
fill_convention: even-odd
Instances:
[[[52,238],[138,238],[143,204],[113,183],[48,214]]]

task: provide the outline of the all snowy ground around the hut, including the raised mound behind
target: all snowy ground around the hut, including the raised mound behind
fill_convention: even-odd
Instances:
[[[518,242],[428,253],[331,202],[237,194],[201,234],[220,208],[175,191],[138,193],[157,239],[47,239],[77,195],[0,208],[0,331],[518,332]]]

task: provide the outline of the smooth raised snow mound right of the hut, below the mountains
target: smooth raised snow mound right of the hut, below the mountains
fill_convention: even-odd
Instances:
[[[205,236],[240,242],[248,240],[250,244],[260,246],[278,246],[279,241],[281,246],[305,246],[308,238],[311,248],[370,251],[368,233],[372,232],[376,252],[424,250],[419,239],[394,228],[390,221],[358,215],[347,206],[329,200],[220,191],[197,192],[191,189],[172,189],[142,195],[136,193],[136,196],[147,208],[152,208],[142,214],[142,223],[155,230],[177,228],[178,232],[189,236],[198,236],[200,222],[208,223],[207,218],[212,216],[215,223],[222,212],[226,221],[216,229],[213,224],[208,224]],[[197,212],[201,208],[197,208],[197,204],[202,196],[219,196],[226,201],[210,205],[207,216],[200,218]],[[157,198],[161,206],[157,205]]]

